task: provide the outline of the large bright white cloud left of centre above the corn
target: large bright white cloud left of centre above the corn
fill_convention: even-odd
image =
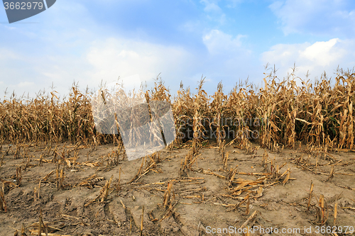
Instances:
[[[141,80],[151,81],[161,72],[164,76],[182,75],[182,68],[190,67],[190,52],[181,47],[156,45],[141,41],[108,38],[95,42],[87,52],[92,66],[93,81],[113,81],[139,74]]]

